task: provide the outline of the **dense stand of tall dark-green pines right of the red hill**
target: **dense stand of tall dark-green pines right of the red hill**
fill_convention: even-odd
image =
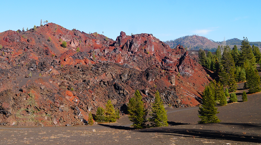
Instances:
[[[218,81],[224,87],[228,87],[229,92],[234,92],[237,88],[236,82],[245,82],[244,87],[249,89],[249,93],[261,91],[260,76],[256,69],[256,64],[261,62],[261,53],[257,46],[250,46],[247,38],[243,37],[241,49],[235,45],[231,50],[229,46],[218,46],[213,55],[211,52],[199,50],[200,64],[218,74]]]

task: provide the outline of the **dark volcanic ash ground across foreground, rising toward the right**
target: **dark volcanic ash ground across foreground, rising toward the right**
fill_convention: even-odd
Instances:
[[[238,84],[240,100],[244,91]],[[247,90],[245,90],[247,91]],[[249,144],[261,145],[261,92],[247,102],[218,106],[221,123],[197,124],[198,107],[167,108],[168,127],[133,130],[128,116],[116,123],[70,127],[0,128],[0,144]]]

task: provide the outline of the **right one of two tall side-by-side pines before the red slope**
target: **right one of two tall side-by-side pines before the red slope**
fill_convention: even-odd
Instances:
[[[168,126],[167,112],[158,91],[155,93],[155,102],[152,104],[151,111],[152,117],[149,118],[149,121],[152,122],[152,127]]]

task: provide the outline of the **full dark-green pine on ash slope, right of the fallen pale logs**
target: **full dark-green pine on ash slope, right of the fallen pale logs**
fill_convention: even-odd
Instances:
[[[198,123],[218,123],[220,120],[216,116],[218,108],[215,108],[214,92],[206,86],[202,96],[202,106],[199,107]]]

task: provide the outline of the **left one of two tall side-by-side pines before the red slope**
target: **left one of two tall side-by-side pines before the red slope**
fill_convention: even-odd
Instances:
[[[137,129],[147,128],[146,116],[148,111],[144,108],[142,96],[139,93],[139,90],[135,91],[134,97],[129,100],[128,103],[128,113],[129,119],[133,122],[133,127]]]

